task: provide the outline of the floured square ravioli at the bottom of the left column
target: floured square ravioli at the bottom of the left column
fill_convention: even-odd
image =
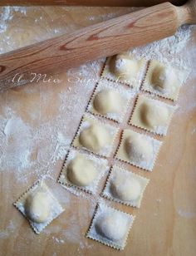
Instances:
[[[70,150],[58,182],[61,185],[72,186],[77,190],[95,194],[101,177],[108,170],[107,160],[77,150]]]

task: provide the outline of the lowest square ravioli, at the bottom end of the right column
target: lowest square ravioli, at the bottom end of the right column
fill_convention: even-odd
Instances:
[[[86,237],[114,249],[124,249],[135,216],[98,204]]]

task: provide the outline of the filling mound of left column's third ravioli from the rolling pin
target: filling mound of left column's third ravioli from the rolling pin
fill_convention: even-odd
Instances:
[[[92,124],[85,130],[81,131],[80,142],[81,145],[88,150],[100,151],[105,144],[110,143],[110,134],[104,126],[98,124]]]

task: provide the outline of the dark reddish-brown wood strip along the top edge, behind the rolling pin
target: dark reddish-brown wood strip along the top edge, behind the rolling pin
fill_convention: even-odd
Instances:
[[[166,0],[1,0],[0,6],[46,6],[46,5],[81,5],[81,6],[110,6],[110,7],[148,7]],[[184,4],[184,0],[170,0],[175,5]]]

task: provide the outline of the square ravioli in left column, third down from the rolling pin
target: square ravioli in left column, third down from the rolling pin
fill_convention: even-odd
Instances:
[[[94,116],[85,115],[72,145],[96,155],[109,156],[118,130],[115,126],[105,124]]]

